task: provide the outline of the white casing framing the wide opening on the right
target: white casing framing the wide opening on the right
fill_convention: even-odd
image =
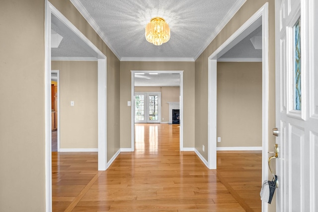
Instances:
[[[239,29],[232,35],[230,38],[225,41],[215,52],[213,52],[209,56],[208,61],[208,103],[209,103],[209,111],[208,111],[208,160],[213,159],[213,163],[209,164],[208,167],[216,166],[216,149],[214,146],[216,145],[216,127],[214,126],[213,118],[216,113],[216,83],[213,76],[216,76],[217,71],[217,59],[218,54],[222,51],[230,48],[230,44],[233,45],[235,43],[235,39],[239,37],[240,34],[248,28],[255,27],[258,24],[258,20],[261,18],[262,23],[262,182],[268,178],[268,167],[267,167],[267,159],[268,159],[268,2],[266,2],[255,14],[253,14]],[[258,25],[259,26],[259,25]],[[251,29],[249,29],[251,30]],[[247,32],[245,32],[247,33]],[[210,106],[213,106],[213,110],[210,112]],[[213,146],[213,147],[211,147]],[[213,150],[213,151],[211,151]],[[268,211],[268,204],[264,201],[262,202],[262,212]]]

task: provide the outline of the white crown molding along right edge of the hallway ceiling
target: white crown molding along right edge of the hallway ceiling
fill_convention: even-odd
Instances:
[[[211,34],[211,36],[208,38],[208,40],[205,42],[203,47],[199,50],[199,52],[194,57],[194,60],[196,60],[201,53],[203,53],[206,48],[211,44],[211,42],[217,37],[217,35],[221,32],[221,30],[227,25],[227,23],[233,18],[233,16],[238,12],[239,8],[245,3],[246,0],[238,0],[238,2],[233,5],[233,7],[230,9],[230,11],[227,13],[227,15],[223,18],[221,23],[215,28],[214,32]]]

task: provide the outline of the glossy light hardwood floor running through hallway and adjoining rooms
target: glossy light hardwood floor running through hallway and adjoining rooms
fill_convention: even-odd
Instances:
[[[135,152],[52,153],[53,211],[260,212],[261,152],[218,152],[209,170],[179,151],[179,126],[136,124]]]

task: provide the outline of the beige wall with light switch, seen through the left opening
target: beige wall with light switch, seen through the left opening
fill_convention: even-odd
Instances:
[[[98,148],[97,61],[52,61],[51,66],[60,70],[60,148]]]

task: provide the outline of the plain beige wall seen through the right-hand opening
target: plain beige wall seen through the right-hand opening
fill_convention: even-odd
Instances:
[[[262,146],[262,63],[218,62],[217,147]]]

